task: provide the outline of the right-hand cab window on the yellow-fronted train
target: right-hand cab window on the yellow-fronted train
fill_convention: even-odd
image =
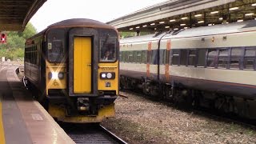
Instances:
[[[117,42],[115,38],[105,38],[100,41],[101,62],[114,62],[116,60]]]

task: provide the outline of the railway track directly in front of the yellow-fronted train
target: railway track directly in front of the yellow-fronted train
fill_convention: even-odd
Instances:
[[[126,144],[121,138],[106,130],[99,124],[60,124],[66,131],[66,134],[78,144],[94,143],[94,144]]]

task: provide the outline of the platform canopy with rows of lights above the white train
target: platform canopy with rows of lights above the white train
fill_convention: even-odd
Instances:
[[[256,18],[256,0],[169,0],[107,22],[119,31],[159,31]]]

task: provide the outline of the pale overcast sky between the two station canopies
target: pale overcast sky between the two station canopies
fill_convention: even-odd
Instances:
[[[70,18],[110,22],[126,14],[166,0],[47,0],[30,22],[38,32],[50,24]]]

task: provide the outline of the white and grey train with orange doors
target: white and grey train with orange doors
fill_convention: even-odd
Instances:
[[[120,40],[120,87],[256,118],[256,21]]]

